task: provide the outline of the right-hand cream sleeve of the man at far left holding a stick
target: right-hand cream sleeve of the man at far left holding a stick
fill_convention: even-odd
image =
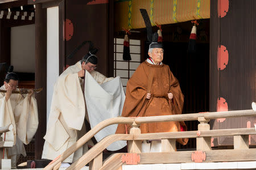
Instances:
[[[18,137],[20,141],[27,145],[38,129],[38,105],[35,97],[32,96],[31,101],[28,101],[28,95],[24,99],[20,97],[14,115]]]

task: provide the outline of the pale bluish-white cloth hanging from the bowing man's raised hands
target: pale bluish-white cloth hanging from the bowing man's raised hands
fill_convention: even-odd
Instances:
[[[108,118],[118,117],[122,114],[125,103],[125,92],[120,77],[98,84],[92,75],[85,74],[85,101],[88,111],[90,126],[94,128],[101,121]],[[115,134],[117,124],[107,126],[99,131],[94,137],[99,142],[108,135]],[[108,146],[110,151],[116,151],[126,146],[126,141],[117,141]]]

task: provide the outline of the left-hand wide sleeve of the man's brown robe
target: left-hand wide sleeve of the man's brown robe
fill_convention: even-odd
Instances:
[[[122,117],[143,116],[146,111],[148,76],[144,70],[143,63],[139,65],[126,86],[126,98],[123,105]],[[152,97],[151,97],[152,98]],[[127,126],[129,130],[129,125]],[[115,133],[125,133],[125,125],[119,124]],[[127,131],[129,133],[129,131]]]

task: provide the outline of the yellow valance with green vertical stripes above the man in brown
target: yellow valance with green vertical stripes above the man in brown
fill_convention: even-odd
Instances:
[[[144,28],[139,8],[147,10],[152,25],[210,18],[210,0],[116,0],[115,26]]]

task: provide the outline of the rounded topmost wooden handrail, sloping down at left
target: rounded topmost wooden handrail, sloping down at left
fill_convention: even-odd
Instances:
[[[109,126],[109,125],[133,124],[133,122],[135,122],[136,124],[142,124],[142,123],[149,123],[149,122],[192,121],[192,120],[198,120],[199,117],[204,117],[204,118],[210,120],[210,119],[216,119],[216,118],[243,117],[243,116],[244,117],[245,116],[256,116],[256,111],[253,111],[251,109],[251,110],[243,110],[243,111],[175,114],[175,115],[167,115],[167,116],[109,118],[107,120],[100,122],[100,124],[96,125],[93,129],[88,131],[88,133],[86,133],[84,136],[82,136],[75,144],[73,144],[71,147],[69,147],[67,150],[65,150],[63,152],[63,154],[58,156],[59,157],[58,159],[54,160],[54,162],[52,162],[51,164],[48,164],[47,167],[45,167],[44,169],[45,170],[53,169],[53,167],[55,167],[55,165],[63,162],[63,160],[68,158],[69,155],[71,155],[73,152],[78,150],[82,145],[84,145],[86,142],[88,142],[90,138],[92,138],[96,133],[98,133],[98,131],[100,131],[101,129],[104,129],[106,126]],[[92,149],[90,149],[90,150],[92,150]],[[92,155],[90,155],[90,156],[92,156]],[[97,155],[95,155],[95,156],[97,156]],[[75,166],[75,164],[74,164],[74,166]]]

